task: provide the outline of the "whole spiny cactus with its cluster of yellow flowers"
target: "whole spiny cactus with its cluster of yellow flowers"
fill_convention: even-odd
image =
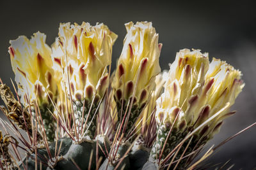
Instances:
[[[125,27],[112,76],[117,36],[104,24],[60,24],[51,47],[40,32],[10,41],[18,90],[1,81],[2,169],[194,169],[211,155],[195,161],[234,114],[241,72],[184,49],[161,73],[152,23]]]

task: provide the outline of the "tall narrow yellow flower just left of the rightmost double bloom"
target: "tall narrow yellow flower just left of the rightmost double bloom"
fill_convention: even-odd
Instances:
[[[120,108],[122,99],[128,101],[135,90],[134,104],[143,108],[154,90],[154,78],[161,71],[159,55],[162,45],[158,43],[158,34],[151,22],[137,22],[135,25],[129,22],[125,27],[124,48],[113,81],[115,100]]]

